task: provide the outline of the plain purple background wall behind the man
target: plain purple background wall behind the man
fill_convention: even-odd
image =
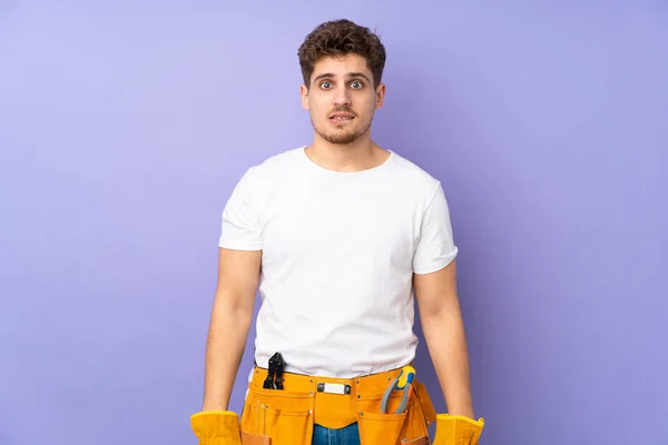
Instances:
[[[132,3],[0,2],[0,444],[195,443],[222,208],[338,17],[449,197],[481,443],[668,441],[666,3]]]

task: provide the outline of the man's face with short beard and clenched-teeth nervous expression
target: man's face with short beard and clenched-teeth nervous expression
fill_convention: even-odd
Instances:
[[[302,86],[302,105],[315,131],[331,144],[345,145],[369,135],[383,105],[385,86],[374,89],[366,60],[357,55],[317,61],[311,85]]]

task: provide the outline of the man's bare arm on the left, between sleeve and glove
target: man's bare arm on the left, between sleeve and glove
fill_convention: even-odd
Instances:
[[[248,338],[261,250],[219,249],[218,283],[206,345],[202,411],[227,411]]]

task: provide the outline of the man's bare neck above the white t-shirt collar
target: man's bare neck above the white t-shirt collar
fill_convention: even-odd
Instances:
[[[315,164],[335,171],[361,171],[383,164],[390,155],[371,138],[361,137],[346,144],[332,144],[315,135],[313,145],[305,148]]]

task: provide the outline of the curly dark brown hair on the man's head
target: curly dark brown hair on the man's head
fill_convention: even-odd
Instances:
[[[306,36],[297,51],[304,85],[311,86],[311,75],[315,63],[322,57],[347,53],[355,53],[366,59],[366,65],[373,73],[374,88],[377,88],[385,68],[385,47],[379,36],[371,32],[369,28],[345,19],[326,21]]]

